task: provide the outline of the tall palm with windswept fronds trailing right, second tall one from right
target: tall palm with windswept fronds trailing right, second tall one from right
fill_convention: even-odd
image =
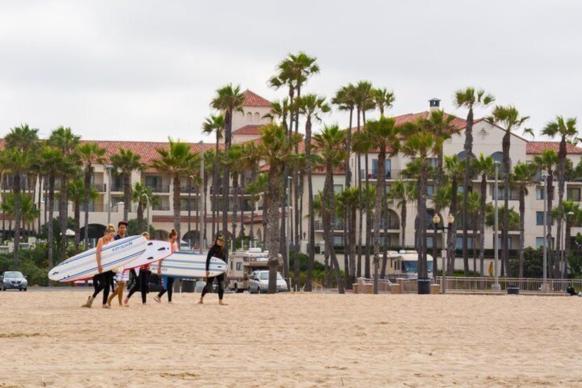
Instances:
[[[520,112],[515,109],[515,106],[500,106],[497,105],[491,113],[489,122],[494,124],[500,124],[505,128],[505,133],[502,139],[502,166],[503,166],[503,217],[502,224],[508,225],[509,223],[509,174],[511,174],[511,159],[509,159],[509,148],[511,147],[511,133],[517,130],[523,130],[525,133],[531,133],[531,129],[524,128],[525,122],[529,119],[529,116],[522,116]],[[501,233],[501,247],[502,247],[502,268],[504,267],[507,271],[507,260],[509,259],[509,244],[508,244],[508,229],[503,228]]]

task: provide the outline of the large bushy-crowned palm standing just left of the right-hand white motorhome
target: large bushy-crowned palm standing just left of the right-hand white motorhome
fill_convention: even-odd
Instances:
[[[380,117],[379,120],[369,120],[362,132],[356,133],[353,141],[354,149],[368,153],[378,152],[378,171],[376,192],[373,210],[373,249],[374,249],[374,286],[377,293],[378,264],[380,263],[380,227],[382,223],[382,209],[385,208],[386,196],[386,156],[392,157],[398,152],[400,145],[399,128],[395,126],[395,119]]]

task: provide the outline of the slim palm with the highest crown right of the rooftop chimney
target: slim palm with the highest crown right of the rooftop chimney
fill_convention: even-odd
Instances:
[[[473,110],[480,106],[489,106],[495,101],[493,95],[483,89],[476,90],[474,87],[467,87],[455,92],[454,104],[457,108],[466,108],[467,126],[465,128],[465,176],[463,178],[463,263],[468,260],[467,251],[467,229],[469,220],[467,217],[467,195],[472,190],[471,183],[471,159],[473,158]],[[467,265],[465,265],[465,275],[467,275]]]

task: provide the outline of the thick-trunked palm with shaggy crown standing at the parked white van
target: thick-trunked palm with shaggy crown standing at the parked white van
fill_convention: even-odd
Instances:
[[[269,249],[269,293],[275,293],[277,290],[277,266],[279,259],[277,253],[281,247],[279,239],[281,238],[281,226],[279,225],[279,208],[281,207],[281,179],[283,178],[283,169],[286,163],[294,159],[295,144],[301,141],[301,135],[292,134],[288,136],[283,126],[277,124],[268,124],[261,128],[261,143],[259,144],[259,153],[262,159],[269,166],[268,171],[268,190],[266,194],[267,230],[266,244]],[[283,258],[286,260],[286,258]],[[312,264],[313,265],[313,264]],[[307,273],[307,277],[310,273]],[[305,286],[307,290],[307,285]]]

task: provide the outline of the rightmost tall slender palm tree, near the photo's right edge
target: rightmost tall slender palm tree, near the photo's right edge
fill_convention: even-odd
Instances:
[[[562,201],[563,201],[563,194],[566,186],[566,155],[568,154],[568,150],[566,148],[566,142],[569,141],[577,141],[578,131],[576,129],[576,122],[577,119],[575,117],[570,117],[566,120],[562,116],[556,116],[554,122],[549,122],[546,124],[544,129],[542,130],[542,135],[548,135],[549,137],[560,137],[560,146],[558,151],[558,214],[557,220],[562,219],[563,209],[562,209]],[[556,231],[556,251],[561,251],[561,222],[558,222],[557,231]],[[564,260],[567,260],[567,256],[564,256]],[[560,268],[563,268],[562,277],[565,279],[567,277],[566,272],[566,263],[561,262]]]

